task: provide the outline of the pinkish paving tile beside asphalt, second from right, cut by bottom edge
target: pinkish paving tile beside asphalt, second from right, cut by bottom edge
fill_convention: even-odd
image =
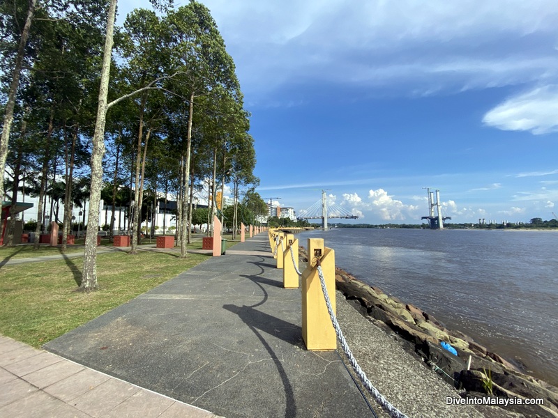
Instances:
[[[156,418],[161,415],[174,400],[145,389],[140,389],[126,401],[107,412],[107,418]]]

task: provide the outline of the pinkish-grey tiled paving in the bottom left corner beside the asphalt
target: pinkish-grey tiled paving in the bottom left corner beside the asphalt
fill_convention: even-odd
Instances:
[[[0,336],[0,417],[210,418],[215,415]]]

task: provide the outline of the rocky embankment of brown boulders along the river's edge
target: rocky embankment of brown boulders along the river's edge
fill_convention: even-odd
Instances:
[[[446,382],[464,389],[462,397],[493,396],[502,416],[558,417],[558,388],[521,373],[513,364],[455,330],[448,330],[425,311],[406,304],[381,289],[335,269],[335,282],[365,318],[395,332],[409,352],[432,367]],[[449,343],[457,355],[442,348]],[[470,356],[470,366],[467,367]],[[515,399],[544,399],[543,405],[518,405]],[[504,406],[505,400],[513,400]],[[513,404],[512,404],[513,403]],[[513,415],[511,415],[513,414]]]

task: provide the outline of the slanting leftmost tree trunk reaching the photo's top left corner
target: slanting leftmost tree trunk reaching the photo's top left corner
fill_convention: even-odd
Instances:
[[[29,1],[29,8],[27,9],[27,19],[23,26],[22,37],[20,38],[20,45],[17,48],[17,56],[15,58],[15,66],[12,72],[12,82],[8,90],[8,101],[6,102],[6,114],[4,114],[4,121],[2,125],[2,134],[0,137],[0,201],[4,199],[4,171],[6,170],[6,157],[8,157],[8,141],[10,141],[10,130],[13,123],[13,109],[15,107],[15,96],[17,88],[20,86],[20,76],[22,73],[23,59],[25,56],[25,46],[27,45],[27,38],[29,38],[29,31],[31,29],[31,22],[33,22],[33,15],[35,14],[37,0]]]

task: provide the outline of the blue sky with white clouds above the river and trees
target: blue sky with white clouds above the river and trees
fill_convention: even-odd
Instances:
[[[420,224],[430,187],[457,223],[558,212],[555,0],[202,3],[266,201],[302,212],[324,189],[350,222]],[[118,22],[135,7],[149,1],[120,0]]]

